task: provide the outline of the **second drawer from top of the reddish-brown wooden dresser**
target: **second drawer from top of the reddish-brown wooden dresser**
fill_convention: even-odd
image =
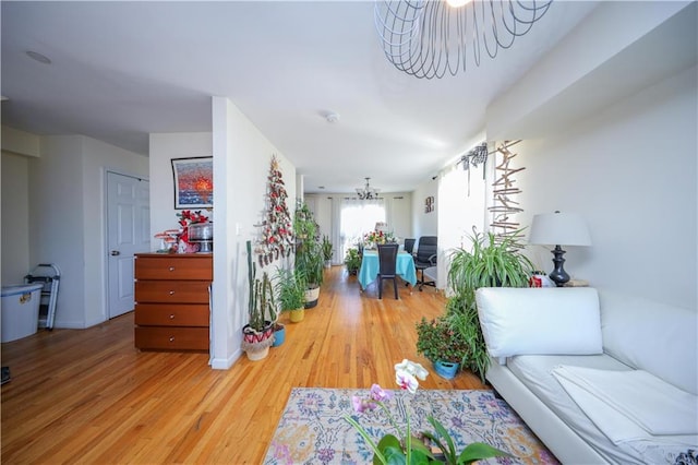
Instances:
[[[208,303],[204,281],[136,281],[135,301],[155,303]]]

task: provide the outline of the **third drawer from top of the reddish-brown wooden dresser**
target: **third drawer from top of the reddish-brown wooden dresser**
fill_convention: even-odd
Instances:
[[[208,327],[208,305],[136,303],[135,324],[143,326]]]

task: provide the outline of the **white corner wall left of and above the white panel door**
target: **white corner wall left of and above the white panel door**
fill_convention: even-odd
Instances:
[[[40,157],[29,159],[28,263],[55,263],[61,271],[56,327],[107,319],[107,168],[146,177],[147,158],[82,135],[51,135],[40,138]]]

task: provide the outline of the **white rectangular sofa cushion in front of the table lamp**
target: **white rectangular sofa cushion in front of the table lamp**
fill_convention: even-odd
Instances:
[[[483,287],[476,300],[492,357],[603,351],[593,288]]]

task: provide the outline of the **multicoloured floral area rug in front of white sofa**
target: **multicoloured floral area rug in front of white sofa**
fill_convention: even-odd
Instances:
[[[351,396],[368,394],[368,389],[293,388],[264,463],[370,464],[373,452],[345,416],[352,416],[376,442],[395,430],[380,408],[353,412]],[[409,413],[413,432],[433,431],[426,420],[433,415],[449,430],[458,452],[471,442],[485,442],[516,457],[484,463],[558,463],[512,407],[491,391],[419,390],[410,394],[396,390],[386,404],[402,428]]]

